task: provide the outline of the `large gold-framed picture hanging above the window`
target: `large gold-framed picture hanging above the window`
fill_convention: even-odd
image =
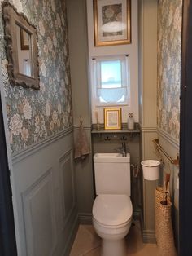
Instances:
[[[94,45],[131,43],[131,0],[94,0]]]

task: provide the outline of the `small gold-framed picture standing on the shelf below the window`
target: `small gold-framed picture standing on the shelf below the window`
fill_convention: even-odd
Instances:
[[[104,108],[105,130],[121,130],[121,108]]]

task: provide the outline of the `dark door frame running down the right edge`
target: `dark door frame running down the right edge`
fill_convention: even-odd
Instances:
[[[180,254],[192,255],[192,1],[183,1],[180,136]]]

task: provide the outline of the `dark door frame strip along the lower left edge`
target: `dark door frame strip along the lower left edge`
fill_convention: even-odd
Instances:
[[[0,97],[0,255],[16,256],[10,172]]]

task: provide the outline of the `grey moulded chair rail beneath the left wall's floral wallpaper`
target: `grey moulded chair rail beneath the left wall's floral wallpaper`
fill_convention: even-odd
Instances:
[[[72,133],[72,130],[73,130],[73,127],[71,126],[68,129],[59,132],[57,135],[51,135],[50,137],[43,139],[39,143],[35,143],[29,146],[28,148],[22,149],[20,152],[15,152],[12,155],[13,164],[17,163],[18,161],[21,161],[25,157],[32,155],[34,152],[37,152],[41,148],[45,148],[50,143],[54,143],[58,139],[62,139],[63,137],[69,135],[70,133]]]

